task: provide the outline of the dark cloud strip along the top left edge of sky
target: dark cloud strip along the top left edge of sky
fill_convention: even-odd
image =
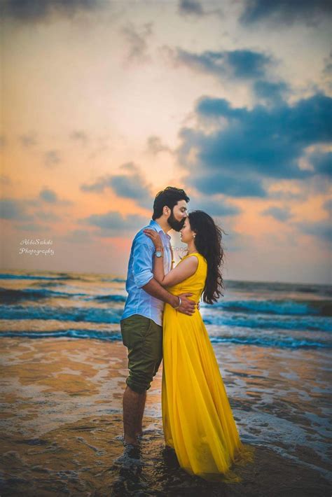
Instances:
[[[53,16],[74,18],[106,6],[104,0],[2,0],[4,18],[20,22],[43,22]]]

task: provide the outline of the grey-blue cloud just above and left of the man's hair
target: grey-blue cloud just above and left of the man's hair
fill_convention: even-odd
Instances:
[[[134,162],[127,162],[121,168],[125,174],[106,174],[97,178],[95,183],[81,185],[83,192],[103,192],[106,188],[111,188],[118,197],[132,199],[141,207],[151,209],[153,197],[150,185],[146,183],[144,176]]]

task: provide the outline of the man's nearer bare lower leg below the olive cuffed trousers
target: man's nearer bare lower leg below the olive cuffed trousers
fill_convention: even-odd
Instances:
[[[134,392],[130,386],[127,386],[123,394],[123,428],[125,432],[125,442],[127,444],[137,444],[137,431],[140,416],[140,406],[142,398],[146,393]]]

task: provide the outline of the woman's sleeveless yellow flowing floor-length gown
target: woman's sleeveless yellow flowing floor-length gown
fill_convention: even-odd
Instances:
[[[167,290],[174,295],[191,292],[189,298],[198,302],[207,262],[200,253],[186,257],[198,258],[195,274]],[[181,468],[207,480],[222,479],[242,447],[198,309],[193,316],[186,316],[165,304],[162,423],[165,444],[175,450]]]

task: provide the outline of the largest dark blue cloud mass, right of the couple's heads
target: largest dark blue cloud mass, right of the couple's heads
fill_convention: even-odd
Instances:
[[[263,180],[308,179],[321,174],[301,169],[305,149],[332,139],[332,99],[315,94],[296,104],[233,108],[225,99],[202,97],[195,113],[214,120],[214,131],[182,128],[179,161],[188,182],[204,194],[266,195]]]

